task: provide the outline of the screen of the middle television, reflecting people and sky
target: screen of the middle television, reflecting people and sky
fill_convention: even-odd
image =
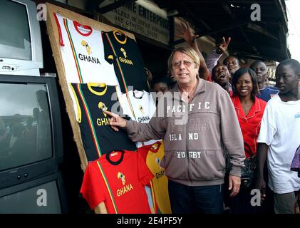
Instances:
[[[52,156],[47,93],[46,84],[0,83],[0,170]]]

